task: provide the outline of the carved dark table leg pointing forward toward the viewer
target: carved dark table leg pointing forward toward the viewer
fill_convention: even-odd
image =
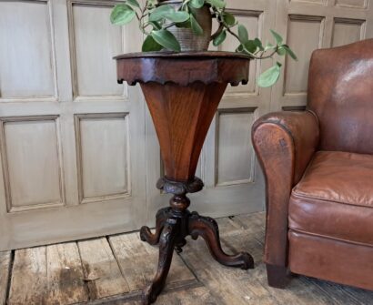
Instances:
[[[156,277],[143,291],[143,304],[148,305],[156,301],[157,296],[163,290],[166,277],[171,266],[172,256],[177,236],[180,232],[180,219],[167,219],[159,240],[159,261]]]

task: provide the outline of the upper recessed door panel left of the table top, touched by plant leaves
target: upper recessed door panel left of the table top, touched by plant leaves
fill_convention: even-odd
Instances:
[[[116,83],[116,61],[122,53],[122,28],[110,24],[112,6],[72,7],[73,54],[75,54],[76,96],[122,96]]]

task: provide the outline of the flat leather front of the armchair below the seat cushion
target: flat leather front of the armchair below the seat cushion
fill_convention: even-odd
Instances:
[[[289,269],[323,280],[373,289],[373,248],[289,230]]]

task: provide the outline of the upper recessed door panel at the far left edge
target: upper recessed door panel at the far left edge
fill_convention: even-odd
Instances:
[[[0,98],[55,96],[49,5],[0,2]]]

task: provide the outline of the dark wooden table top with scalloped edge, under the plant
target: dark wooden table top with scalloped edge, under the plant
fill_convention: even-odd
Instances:
[[[136,83],[173,83],[179,86],[201,82],[238,86],[248,82],[250,56],[233,52],[146,52],[114,57],[117,80]]]

